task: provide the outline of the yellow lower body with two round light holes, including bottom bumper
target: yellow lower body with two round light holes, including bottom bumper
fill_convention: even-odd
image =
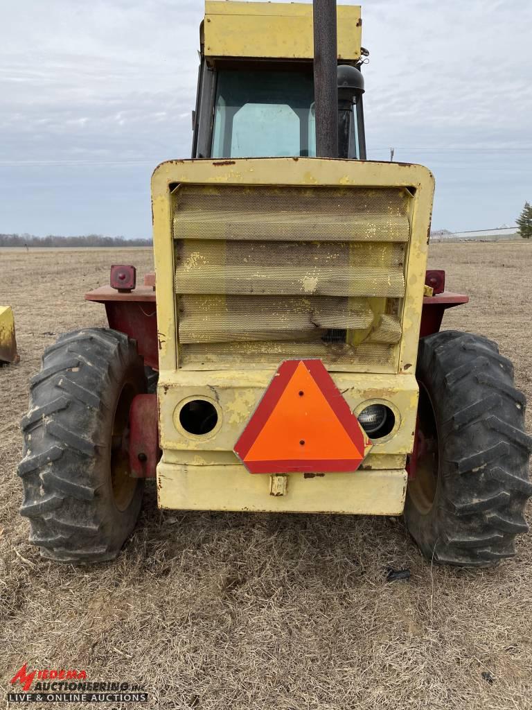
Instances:
[[[414,373],[336,373],[333,381],[349,409],[370,403],[392,408],[392,432],[375,439],[360,468],[310,473],[250,473],[233,452],[275,371],[164,373],[157,388],[160,448],[157,495],[161,508],[256,510],[294,513],[399,515],[404,508],[406,455],[416,427],[418,385]],[[184,430],[181,413],[190,400],[209,403],[218,420],[208,434]],[[357,470],[355,470],[357,469]],[[289,471],[289,472],[288,472]]]

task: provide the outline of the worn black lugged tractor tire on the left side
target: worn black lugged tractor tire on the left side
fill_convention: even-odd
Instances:
[[[143,480],[129,476],[128,413],[145,393],[143,360],[123,333],[65,333],[45,350],[31,380],[18,466],[43,557],[88,563],[113,559],[135,527]]]

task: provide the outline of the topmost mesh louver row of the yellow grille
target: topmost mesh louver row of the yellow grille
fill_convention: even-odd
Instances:
[[[408,241],[406,190],[186,186],[174,195],[174,238]]]

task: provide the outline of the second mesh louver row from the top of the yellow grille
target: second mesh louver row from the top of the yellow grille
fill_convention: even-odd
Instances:
[[[176,244],[176,293],[404,294],[404,244],[214,241]]]

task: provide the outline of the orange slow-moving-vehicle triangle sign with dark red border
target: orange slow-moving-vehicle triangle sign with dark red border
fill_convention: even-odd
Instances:
[[[284,361],[235,444],[252,474],[355,471],[372,444],[321,360]]]

